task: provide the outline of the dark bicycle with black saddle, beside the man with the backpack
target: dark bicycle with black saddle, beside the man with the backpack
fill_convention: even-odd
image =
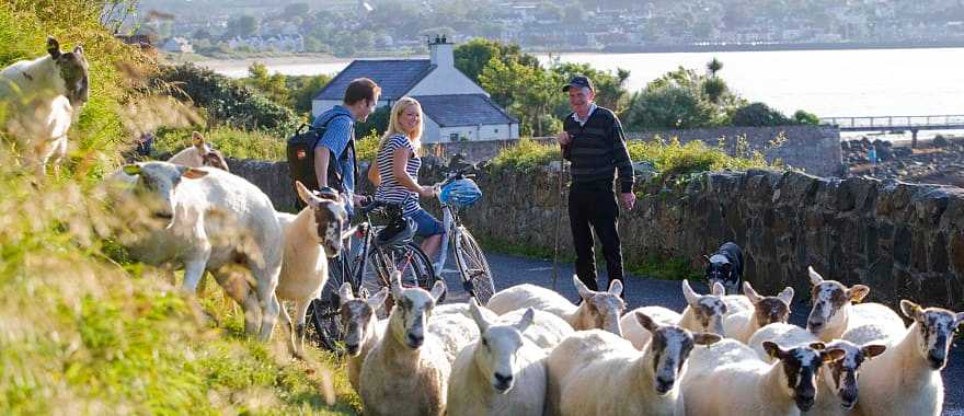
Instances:
[[[388,217],[388,224],[402,220],[401,207],[393,204],[371,201],[358,209],[364,220],[356,226],[357,247],[346,244],[337,257],[329,259],[329,279],[319,299],[309,308],[310,338],[321,348],[343,353],[344,339],[341,317],[338,288],[349,282],[352,290],[362,296],[363,291],[375,292],[382,287],[391,287],[390,278],[394,270],[402,271],[402,282],[429,290],[438,279],[428,256],[411,238],[391,244],[379,244],[378,235],[387,227],[371,227],[371,213],[381,211]],[[371,268],[369,269],[369,264]]]

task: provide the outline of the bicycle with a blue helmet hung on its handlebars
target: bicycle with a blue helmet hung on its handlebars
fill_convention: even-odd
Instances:
[[[456,267],[458,267],[459,276],[462,279],[462,288],[467,293],[479,300],[481,304],[485,304],[489,302],[489,298],[492,298],[492,294],[495,293],[492,268],[489,266],[489,261],[485,259],[485,253],[482,252],[475,238],[462,224],[459,217],[461,209],[472,206],[482,197],[481,190],[470,180],[474,175],[466,174],[467,171],[472,169],[475,169],[475,166],[469,165],[449,173],[444,181],[435,184],[435,190],[438,201],[441,204],[441,222],[446,230],[443,238],[443,246],[446,245],[445,240],[450,242],[451,252],[455,254]],[[452,185],[457,182],[468,186],[469,188],[467,189],[471,189],[471,192],[460,193]],[[445,264],[446,255],[446,250],[443,250],[439,259],[440,265]]]

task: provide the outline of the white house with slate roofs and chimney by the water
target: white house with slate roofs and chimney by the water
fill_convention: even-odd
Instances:
[[[425,114],[422,142],[518,139],[519,120],[456,69],[452,47],[435,37],[428,43],[429,59],[355,60],[314,96],[311,114],[341,104],[348,83],[364,77],[381,86],[378,106],[403,96],[418,100]]]

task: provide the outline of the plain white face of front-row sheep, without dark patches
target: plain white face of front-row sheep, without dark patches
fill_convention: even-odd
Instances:
[[[523,347],[523,332],[532,324],[536,312],[529,308],[516,324],[492,325],[485,320],[474,298],[469,309],[481,334],[473,357],[475,366],[479,372],[490,378],[496,393],[507,393],[520,370],[516,355]]]

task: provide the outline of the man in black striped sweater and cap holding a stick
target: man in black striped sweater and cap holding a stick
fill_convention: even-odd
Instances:
[[[632,209],[636,200],[632,193],[632,160],[619,118],[612,111],[593,103],[596,93],[588,78],[575,76],[562,91],[569,93],[573,109],[563,120],[564,131],[556,140],[563,157],[572,162],[569,218],[576,250],[576,275],[589,289],[598,290],[593,232],[602,243],[609,284],[622,280],[622,249],[617,230],[619,207],[613,181],[618,171],[619,199],[627,210]]]

